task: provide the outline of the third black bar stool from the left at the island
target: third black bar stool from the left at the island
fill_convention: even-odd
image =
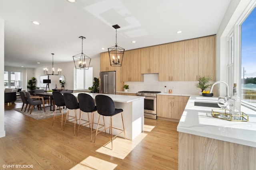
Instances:
[[[78,94],[78,102],[79,102],[79,108],[80,108],[80,120],[79,120],[79,125],[78,125],[78,130],[76,136],[78,136],[79,129],[82,129],[84,131],[87,131],[86,129],[83,129],[80,127],[80,125],[89,125],[90,127],[90,133],[91,133],[91,142],[92,142],[92,131],[93,129],[93,124],[94,124],[94,111],[97,111],[97,107],[94,104],[94,100],[92,96],[86,93],[80,93]],[[88,121],[82,119],[82,114],[87,113],[88,115]],[[89,118],[89,113],[91,114],[91,118]],[[85,121],[85,123],[81,124],[81,120]]]

